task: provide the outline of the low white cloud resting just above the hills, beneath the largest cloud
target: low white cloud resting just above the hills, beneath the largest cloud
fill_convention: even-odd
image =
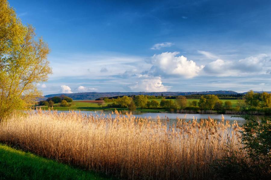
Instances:
[[[132,91],[146,91],[146,92],[163,92],[170,87],[162,84],[161,77],[153,77],[150,79],[139,79],[135,84],[129,85]]]

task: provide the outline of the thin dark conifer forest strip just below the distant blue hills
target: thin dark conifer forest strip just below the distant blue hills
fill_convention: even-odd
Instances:
[[[135,98],[136,95],[128,95],[127,97]],[[161,94],[160,96],[150,96],[150,95],[144,95],[147,99],[176,99],[178,96],[164,96]],[[201,94],[195,94],[195,95],[183,95],[186,99],[200,99]],[[219,99],[242,99],[245,95],[244,94],[231,94],[231,95],[224,95],[224,94],[217,94],[216,95]],[[122,98],[123,96],[113,96],[113,97],[101,97],[97,98],[95,100],[105,100],[105,99],[117,99],[118,97]],[[113,100],[114,101],[114,100]],[[113,102],[112,101],[112,102]]]

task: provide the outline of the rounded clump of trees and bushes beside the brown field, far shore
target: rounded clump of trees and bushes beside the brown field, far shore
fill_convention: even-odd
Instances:
[[[73,99],[65,96],[65,95],[61,95],[61,96],[54,96],[51,98],[47,98],[46,101],[39,101],[38,106],[48,106],[48,107],[53,107],[54,104],[56,107],[61,106],[61,107],[69,107],[72,104],[70,104],[71,102],[73,102]]]

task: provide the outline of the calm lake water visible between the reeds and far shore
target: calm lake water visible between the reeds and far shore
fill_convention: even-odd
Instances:
[[[59,111],[59,112],[67,112],[67,111]],[[98,116],[100,116],[101,114],[101,111],[80,111],[81,113],[85,113],[87,115],[89,114],[97,114]],[[107,112],[107,111],[104,111],[103,112],[105,114],[105,116],[111,114],[111,111],[110,112]],[[123,113],[124,114],[124,113]],[[177,117],[179,119],[185,119],[185,121],[188,121],[188,120],[193,120],[193,117],[195,117],[195,119],[197,118],[198,122],[201,120],[201,119],[208,119],[208,117],[214,119],[214,120],[217,120],[217,122],[220,122],[221,121],[221,117],[222,115],[221,114],[184,114],[184,113],[139,113],[139,112],[134,112],[132,113],[134,116],[136,117],[142,117],[142,118],[149,118],[151,117],[152,120],[157,120],[157,116],[160,117],[160,119],[169,119],[169,122],[170,124],[171,123],[174,123],[174,122],[177,122]],[[230,122],[230,124],[232,124],[235,120],[238,122],[238,125],[243,125],[246,120],[245,119],[242,119],[242,118],[233,118],[231,117],[232,115],[230,114],[226,114],[226,115],[223,115],[224,116],[224,122],[226,122],[226,120],[228,120]]]

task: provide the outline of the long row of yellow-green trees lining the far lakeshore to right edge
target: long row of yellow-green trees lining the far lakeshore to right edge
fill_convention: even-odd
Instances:
[[[159,97],[159,96],[158,96]],[[158,99],[158,97],[156,97]],[[221,96],[220,96],[221,97]],[[231,96],[228,96],[231,97]],[[271,94],[267,92],[254,93],[249,91],[246,95],[240,96],[242,99],[237,101],[236,107],[232,107],[231,101],[221,101],[217,95],[201,95],[199,101],[187,101],[186,96],[176,96],[174,99],[159,97],[157,101],[153,96],[136,95],[122,96],[117,98],[103,98],[108,107],[122,107],[129,110],[141,108],[148,109],[165,109],[165,110],[235,110],[235,111],[259,111],[266,114],[271,113]],[[151,101],[150,101],[151,100]]]

